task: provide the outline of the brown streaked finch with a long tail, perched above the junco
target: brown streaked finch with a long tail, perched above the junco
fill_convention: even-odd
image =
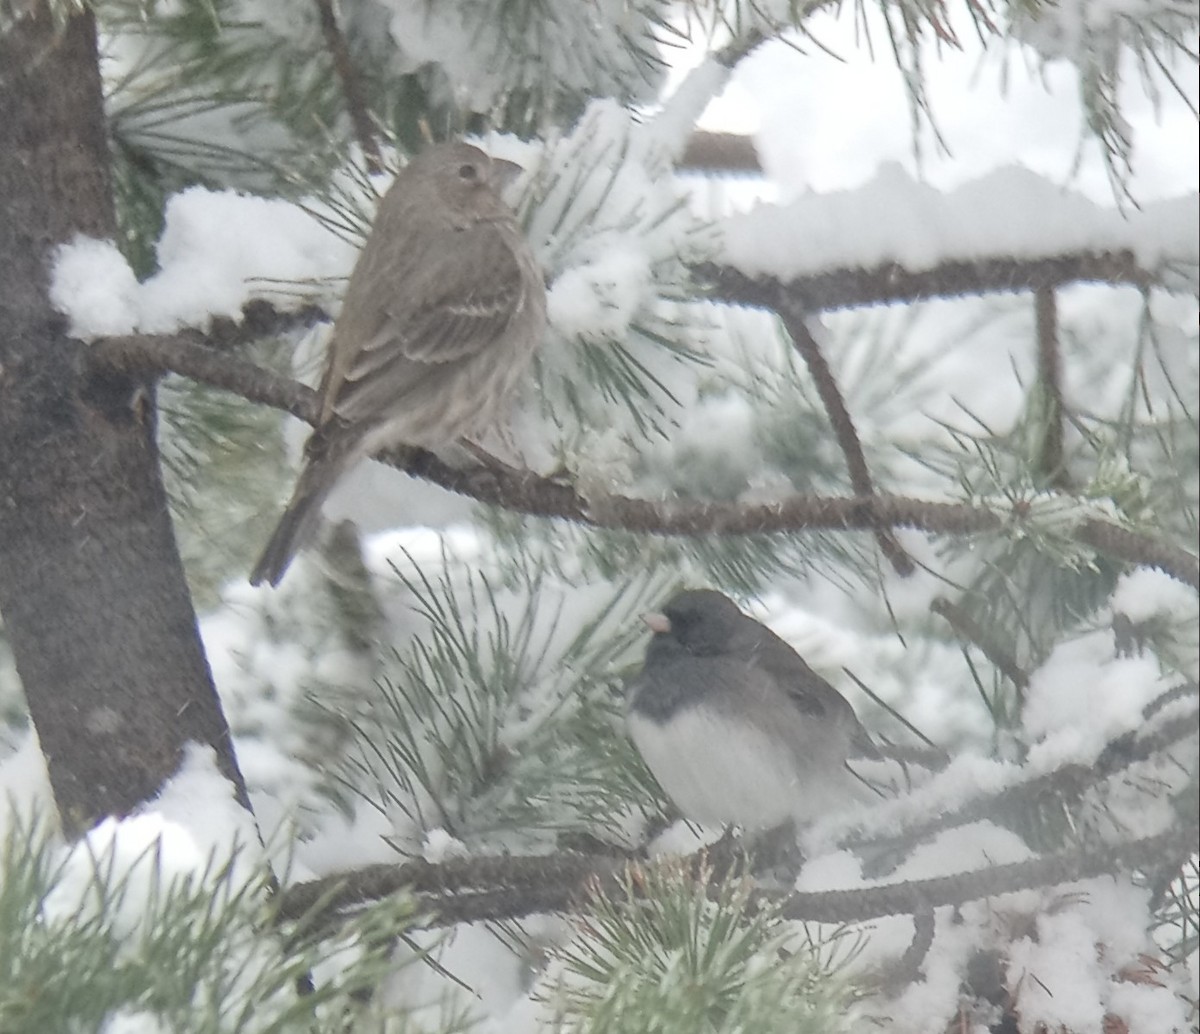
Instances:
[[[500,198],[520,172],[436,144],[384,194],[334,325],[304,471],[251,584],[280,583],[361,459],[443,447],[503,415],[546,327],[541,270]]]

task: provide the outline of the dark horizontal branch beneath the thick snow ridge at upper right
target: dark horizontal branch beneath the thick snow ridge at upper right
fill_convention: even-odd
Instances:
[[[899,263],[886,263],[870,270],[840,269],[786,283],[769,276],[748,276],[715,263],[694,266],[694,272],[708,285],[707,294],[713,301],[775,308],[779,300],[786,297],[808,312],[991,291],[1039,290],[1078,282],[1132,284],[1146,290],[1160,281],[1158,275],[1139,266],[1129,251],[1043,259],[956,260],[918,271],[910,271]]]

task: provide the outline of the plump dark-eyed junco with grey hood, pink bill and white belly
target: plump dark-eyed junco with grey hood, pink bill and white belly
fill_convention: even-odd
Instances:
[[[626,687],[630,734],[686,818],[746,830],[866,796],[848,757],[877,757],[853,708],[727,596],[694,589],[643,620],[654,638]]]

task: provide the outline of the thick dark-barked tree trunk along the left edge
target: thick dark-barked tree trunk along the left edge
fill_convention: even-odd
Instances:
[[[34,5],[30,5],[34,6]],[[0,30],[0,614],[62,825],[154,796],[190,741],[242,804],[155,443],[149,375],[85,372],[47,295],[54,247],[113,238],[96,32]]]

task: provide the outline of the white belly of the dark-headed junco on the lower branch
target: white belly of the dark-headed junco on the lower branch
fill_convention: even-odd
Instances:
[[[710,714],[686,708],[665,725],[629,714],[634,743],[684,816],[713,825],[770,829],[827,806],[810,798],[829,787],[804,786],[787,751],[752,726]]]

